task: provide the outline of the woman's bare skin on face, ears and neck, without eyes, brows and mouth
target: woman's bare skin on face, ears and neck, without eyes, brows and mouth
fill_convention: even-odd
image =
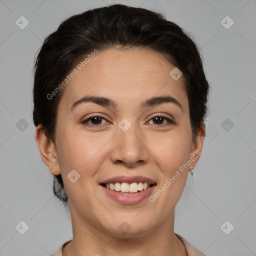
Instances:
[[[52,174],[61,173],[69,197],[73,239],[63,256],[80,255],[187,255],[175,236],[174,208],[183,191],[190,166],[157,198],[136,204],[120,204],[107,196],[99,182],[118,175],[142,175],[156,181],[152,194],[160,189],[190,156],[200,152],[205,135],[201,125],[192,140],[188,98],[183,76],[174,80],[174,65],[160,53],[142,49],[111,48],[99,51],[64,88],[57,109],[55,144],[42,127],[36,127],[36,142],[42,160]],[[85,95],[104,96],[117,106],[92,102],[70,110]],[[140,109],[152,96],[169,95],[174,103]],[[98,122],[89,114],[102,116]],[[154,116],[164,116],[160,124]],[[126,118],[131,127],[123,131],[118,122]],[[98,123],[98,127],[92,124]],[[165,125],[169,123],[169,125]],[[75,169],[80,178],[72,183],[66,177]],[[126,221],[130,230],[118,226]]]

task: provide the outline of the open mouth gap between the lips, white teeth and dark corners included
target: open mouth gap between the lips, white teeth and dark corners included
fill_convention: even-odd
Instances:
[[[100,185],[104,186],[105,188],[119,192],[122,194],[127,193],[139,193],[142,190],[146,190],[149,187],[155,186],[156,183],[147,183],[147,182],[115,182],[115,183],[101,183]]]

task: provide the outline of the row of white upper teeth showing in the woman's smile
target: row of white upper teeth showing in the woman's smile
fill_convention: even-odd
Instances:
[[[149,185],[146,182],[132,182],[130,184],[127,182],[115,182],[106,184],[106,188],[120,192],[136,193],[137,191],[145,190]]]

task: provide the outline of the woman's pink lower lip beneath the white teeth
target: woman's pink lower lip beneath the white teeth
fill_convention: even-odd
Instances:
[[[115,201],[122,203],[122,204],[134,204],[134,203],[141,202],[142,200],[147,198],[151,194],[152,190],[154,189],[154,187],[156,185],[150,186],[146,190],[141,190],[140,192],[127,193],[127,194],[123,194],[123,193],[116,192],[114,190],[110,190],[102,185],[100,185],[100,186],[103,188],[105,193],[108,196],[110,196],[112,199],[114,199]]]

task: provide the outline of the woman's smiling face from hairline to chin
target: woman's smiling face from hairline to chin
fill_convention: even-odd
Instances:
[[[77,228],[139,236],[173,222],[204,137],[201,128],[192,141],[184,77],[171,76],[174,67],[154,51],[111,48],[76,68],[58,105],[52,156],[44,160],[61,173]],[[121,193],[102,185],[118,181],[122,189],[141,189],[140,181],[151,187]]]

